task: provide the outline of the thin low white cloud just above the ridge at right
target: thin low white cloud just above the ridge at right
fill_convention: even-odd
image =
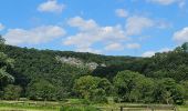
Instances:
[[[142,54],[142,57],[153,57],[153,56],[155,56],[155,53],[157,53],[157,52],[168,52],[168,51],[171,51],[171,49],[169,49],[169,48],[163,48],[163,49],[160,49],[160,50],[158,50],[158,51],[146,51],[146,52],[144,52],[144,53]]]

